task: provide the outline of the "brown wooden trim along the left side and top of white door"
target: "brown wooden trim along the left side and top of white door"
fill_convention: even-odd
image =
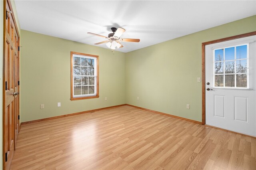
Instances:
[[[202,125],[205,125],[205,45],[255,36],[256,31],[202,43]]]

